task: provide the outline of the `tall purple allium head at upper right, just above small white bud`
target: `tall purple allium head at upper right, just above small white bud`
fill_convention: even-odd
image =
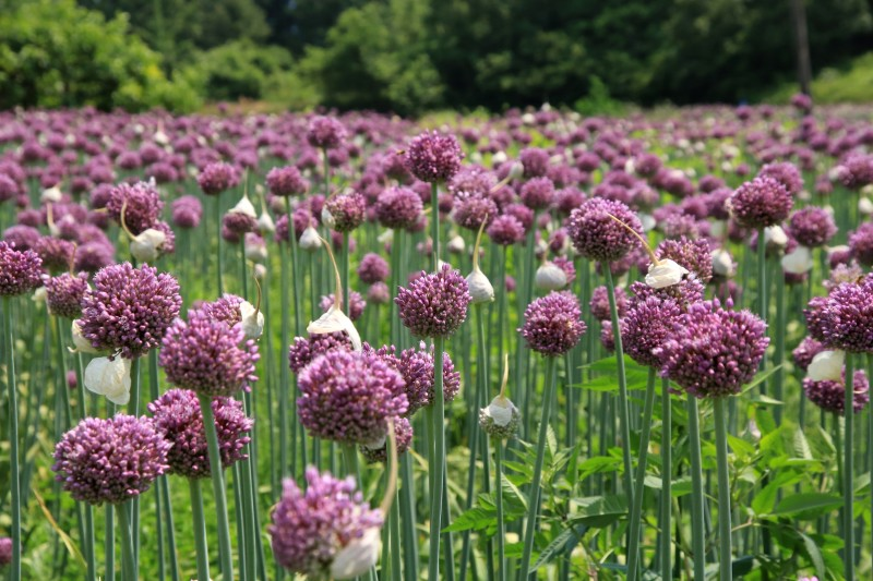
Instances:
[[[755,230],[776,226],[788,218],[793,203],[785,185],[769,177],[758,177],[745,182],[728,201],[737,223]]]

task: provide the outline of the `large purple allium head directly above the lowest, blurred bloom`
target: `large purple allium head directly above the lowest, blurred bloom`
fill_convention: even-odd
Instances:
[[[388,417],[406,413],[403,376],[380,358],[330,350],[298,376],[297,414],[310,435],[340,444],[373,444]]]

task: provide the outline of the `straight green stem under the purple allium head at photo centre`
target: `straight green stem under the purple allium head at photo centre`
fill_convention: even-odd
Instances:
[[[434,184],[433,191],[436,191]],[[435,194],[434,194],[435,196]],[[434,206],[434,209],[435,206]],[[442,530],[442,488],[444,457],[445,457],[445,397],[443,396],[443,346],[445,339],[435,337],[433,339],[433,463],[428,468],[433,471],[433,486],[430,491],[430,558],[428,560],[428,579],[440,579],[440,532]],[[452,564],[447,564],[452,567]]]

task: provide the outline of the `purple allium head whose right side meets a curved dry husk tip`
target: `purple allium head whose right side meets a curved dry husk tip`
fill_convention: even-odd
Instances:
[[[610,263],[639,244],[636,237],[610,216],[642,234],[643,225],[631,208],[621,202],[593,197],[570,215],[567,232],[579,254],[591,261]]]

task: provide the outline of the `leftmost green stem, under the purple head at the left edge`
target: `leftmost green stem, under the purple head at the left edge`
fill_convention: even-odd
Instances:
[[[12,336],[12,300],[3,296],[3,329],[7,352],[7,395],[9,398],[9,476],[12,513],[12,562],[9,566],[10,581],[21,580],[21,469],[19,467],[19,396],[15,386],[15,349]]]

